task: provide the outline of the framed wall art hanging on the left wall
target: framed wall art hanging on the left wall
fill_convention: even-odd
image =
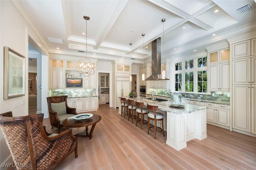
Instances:
[[[4,99],[25,95],[25,57],[4,47]]]

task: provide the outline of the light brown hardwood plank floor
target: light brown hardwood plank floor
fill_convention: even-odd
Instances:
[[[135,121],[132,124],[121,117],[118,109],[99,107],[90,112],[102,117],[92,139],[78,137],[78,158],[71,154],[54,170],[256,169],[255,137],[207,124],[206,139],[191,140],[176,151],[166,144],[162,133],[155,140],[153,132],[147,134],[146,124],[141,130]],[[48,132],[57,132],[48,119],[44,124]]]

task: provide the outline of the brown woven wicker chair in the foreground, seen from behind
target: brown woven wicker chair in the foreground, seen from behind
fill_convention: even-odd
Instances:
[[[77,138],[71,130],[49,134],[43,126],[44,114],[12,117],[0,115],[0,127],[18,170],[49,170],[73,151],[77,154]]]

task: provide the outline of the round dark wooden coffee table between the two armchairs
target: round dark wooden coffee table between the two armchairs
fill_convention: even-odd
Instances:
[[[81,127],[86,127],[85,134],[84,132],[75,134],[75,136],[87,136],[89,139],[92,138],[92,132],[96,126],[96,123],[98,123],[101,120],[100,115],[93,115],[92,117],[85,119],[85,120],[75,120],[72,117],[65,119],[62,122],[62,125],[66,127],[66,129],[69,128],[81,128]],[[88,126],[92,125],[92,128],[90,130],[90,134],[88,133]]]

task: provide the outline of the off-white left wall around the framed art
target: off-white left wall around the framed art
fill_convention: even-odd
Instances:
[[[25,81],[24,96],[4,100],[4,46],[10,47],[25,56],[25,80],[28,77],[28,36],[35,40],[35,42],[41,44],[43,48],[42,51],[47,51],[45,50],[46,47],[43,45],[45,43],[42,43],[44,39],[39,38],[38,35],[40,34],[35,32],[37,30],[31,28],[31,25],[23,18],[26,15],[21,15],[20,12],[18,12],[18,10],[22,10],[22,8],[19,1],[0,1],[0,113],[12,111],[14,117],[28,115],[28,90],[26,90],[28,81]],[[26,10],[23,9],[23,11]],[[48,74],[48,63],[46,66],[46,73]],[[46,82],[47,92],[48,75]],[[25,105],[21,105],[22,100],[26,101]],[[20,104],[19,107],[14,108],[14,102],[18,102]],[[0,163],[12,163],[10,151],[6,145],[2,131],[0,132]],[[1,167],[1,169],[6,168]]]

